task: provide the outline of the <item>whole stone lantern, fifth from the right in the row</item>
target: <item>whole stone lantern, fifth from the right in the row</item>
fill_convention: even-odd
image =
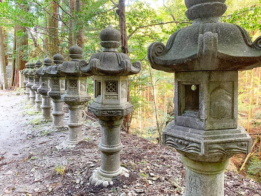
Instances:
[[[42,118],[51,121],[51,98],[47,92],[50,90],[50,77],[45,73],[45,70],[52,65],[52,59],[49,57],[44,58],[43,67],[36,70],[36,75],[40,76],[40,87],[37,89],[42,97]]]

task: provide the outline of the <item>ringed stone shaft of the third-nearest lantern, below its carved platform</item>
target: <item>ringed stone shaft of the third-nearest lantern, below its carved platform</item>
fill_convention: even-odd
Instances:
[[[69,127],[68,145],[75,145],[82,140],[82,110],[84,105],[67,105],[69,109],[69,120],[67,125]]]

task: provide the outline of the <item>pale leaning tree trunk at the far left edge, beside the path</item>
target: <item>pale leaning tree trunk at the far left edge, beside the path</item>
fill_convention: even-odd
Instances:
[[[7,77],[6,77],[6,62],[5,62],[5,52],[3,45],[3,30],[0,26],[0,78],[3,89],[8,88]]]

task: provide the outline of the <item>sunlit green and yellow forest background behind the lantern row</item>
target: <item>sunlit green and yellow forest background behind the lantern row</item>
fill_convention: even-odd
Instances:
[[[166,43],[176,30],[191,25],[192,21],[185,15],[184,0],[0,1],[1,73],[5,73],[8,54],[12,54],[9,89],[18,87],[19,70],[25,68],[26,62],[34,62],[38,58],[42,60],[47,54],[52,57],[57,51],[69,60],[68,47],[74,39],[83,48],[84,59],[89,60],[91,55],[102,51],[99,32],[111,23],[122,33],[119,51],[128,53],[133,62],[139,60],[142,63],[142,71],[129,77],[134,112],[127,126],[133,134],[161,142],[166,123],[173,119],[175,75],[151,69],[146,53],[152,42]],[[242,26],[252,40],[261,35],[261,0],[227,0],[226,4],[228,9],[220,17],[221,21]],[[254,140],[259,138],[261,124],[260,72],[261,68],[256,68],[239,73],[238,121]],[[3,78],[0,78],[3,84]],[[91,77],[88,82],[88,92],[92,96]],[[261,156],[259,143],[256,142],[255,153],[250,160],[261,168],[258,162],[258,152]],[[245,155],[233,158],[236,171],[244,158]],[[261,172],[248,174],[261,181]]]

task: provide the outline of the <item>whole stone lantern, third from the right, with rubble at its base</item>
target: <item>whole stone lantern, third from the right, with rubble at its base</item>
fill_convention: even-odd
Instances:
[[[68,145],[76,145],[82,138],[82,125],[86,117],[84,104],[88,103],[90,96],[87,91],[86,74],[79,69],[79,61],[82,59],[82,48],[75,44],[68,49],[70,61],[63,62],[57,66],[59,75],[65,76],[65,94],[61,96],[69,109],[69,136],[66,141],[59,145],[59,148],[64,148]],[[82,117],[84,113],[84,117]]]

